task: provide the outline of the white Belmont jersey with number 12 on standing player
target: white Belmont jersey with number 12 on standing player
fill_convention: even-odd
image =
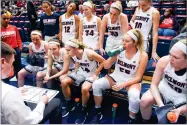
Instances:
[[[66,18],[66,14],[62,15],[62,41],[66,42],[70,39],[75,38],[76,26],[75,26],[75,17],[72,15],[69,18]]]

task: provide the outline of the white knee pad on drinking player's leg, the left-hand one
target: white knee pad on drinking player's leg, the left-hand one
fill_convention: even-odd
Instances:
[[[105,89],[109,89],[110,84],[107,78],[103,77],[101,79],[94,81],[92,84],[92,88],[94,96],[102,96],[102,91]]]

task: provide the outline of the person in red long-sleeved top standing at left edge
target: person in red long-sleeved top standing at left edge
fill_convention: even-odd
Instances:
[[[10,45],[15,51],[15,62],[13,64],[14,71],[17,73],[21,67],[21,50],[22,40],[20,38],[19,31],[16,26],[10,25],[11,15],[7,12],[2,11],[1,13],[1,40]]]

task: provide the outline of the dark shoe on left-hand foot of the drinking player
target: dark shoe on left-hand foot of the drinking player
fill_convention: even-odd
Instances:
[[[98,124],[99,121],[101,121],[101,119],[103,118],[101,111],[98,111],[98,110],[101,110],[101,109],[96,109],[90,124]]]

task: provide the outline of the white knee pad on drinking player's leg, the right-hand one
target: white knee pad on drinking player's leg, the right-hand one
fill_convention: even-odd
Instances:
[[[129,111],[133,113],[138,113],[140,107],[140,91],[132,88],[128,91],[129,97]]]

